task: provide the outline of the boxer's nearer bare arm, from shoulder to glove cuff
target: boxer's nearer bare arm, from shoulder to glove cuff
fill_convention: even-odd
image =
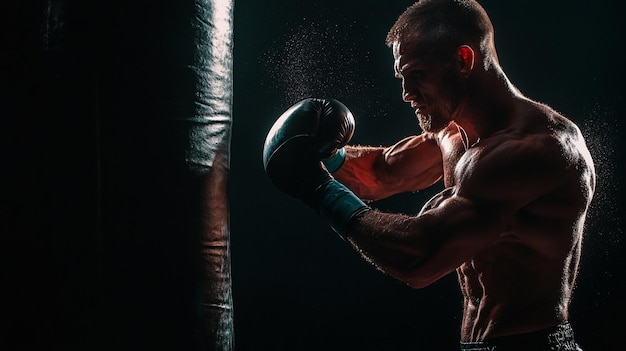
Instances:
[[[560,189],[566,164],[559,150],[535,139],[500,143],[459,161],[456,185],[418,215],[371,210],[350,223],[346,236],[380,270],[427,286],[499,240],[520,208]]]

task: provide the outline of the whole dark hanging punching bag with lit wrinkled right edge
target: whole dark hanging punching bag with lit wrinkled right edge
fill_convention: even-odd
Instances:
[[[232,13],[232,0],[159,0],[99,15],[100,330],[137,349],[232,348]]]

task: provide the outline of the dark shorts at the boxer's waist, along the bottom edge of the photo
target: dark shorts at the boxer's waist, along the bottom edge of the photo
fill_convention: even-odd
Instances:
[[[582,351],[569,323],[532,333],[493,338],[484,342],[462,342],[464,351]]]

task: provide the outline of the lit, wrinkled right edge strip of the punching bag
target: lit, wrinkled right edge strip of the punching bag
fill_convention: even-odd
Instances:
[[[198,101],[190,119],[191,168],[208,171],[200,219],[202,279],[200,345],[203,350],[232,350],[233,301],[229,247],[228,170],[232,125],[233,1],[196,2]]]

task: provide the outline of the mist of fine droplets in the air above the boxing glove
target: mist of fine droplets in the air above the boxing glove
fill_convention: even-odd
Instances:
[[[350,100],[369,108],[377,91],[368,69],[369,54],[354,23],[302,19],[286,38],[266,52],[266,85],[281,95],[281,105],[307,97]],[[356,38],[356,39],[355,39]]]

